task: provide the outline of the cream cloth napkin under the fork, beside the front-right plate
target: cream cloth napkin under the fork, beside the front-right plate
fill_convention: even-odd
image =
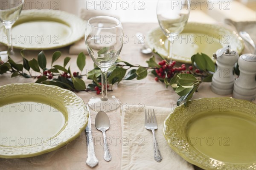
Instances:
[[[158,129],[156,138],[159,145],[161,162],[154,160],[153,135],[151,130],[145,129],[145,109],[154,109]],[[163,136],[163,122],[172,111],[171,108],[157,108],[145,106],[144,108],[130,105],[121,111],[122,122],[122,163],[121,169],[136,170],[193,170],[189,164],[173,151]]]

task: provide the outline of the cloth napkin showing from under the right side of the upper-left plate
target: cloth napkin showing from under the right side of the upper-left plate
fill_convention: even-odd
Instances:
[[[108,14],[104,13],[104,12],[100,12],[100,11],[81,9],[79,17],[81,17],[83,20],[87,21],[91,17],[104,16],[104,15],[108,15]],[[113,16],[113,15],[111,15],[111,16]],[[117,16],[113,16],[113,17],[118,18]],[[70,49],[69,49],[69,54],[79,54],[81,52],[84,52],[84,54],[88,54],[88,51],[85,47],[84,37],[81,40],[79,40],[78,42],[71,45]]]

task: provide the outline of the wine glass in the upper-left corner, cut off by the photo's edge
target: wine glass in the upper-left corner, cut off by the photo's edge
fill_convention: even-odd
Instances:
[[[0,20],[7,30],[7,51],[1,51],[0,54],[13,55],[12,32],[11,28],[18,19],[23,8],[24,0],[2,0],[0,3]]]

